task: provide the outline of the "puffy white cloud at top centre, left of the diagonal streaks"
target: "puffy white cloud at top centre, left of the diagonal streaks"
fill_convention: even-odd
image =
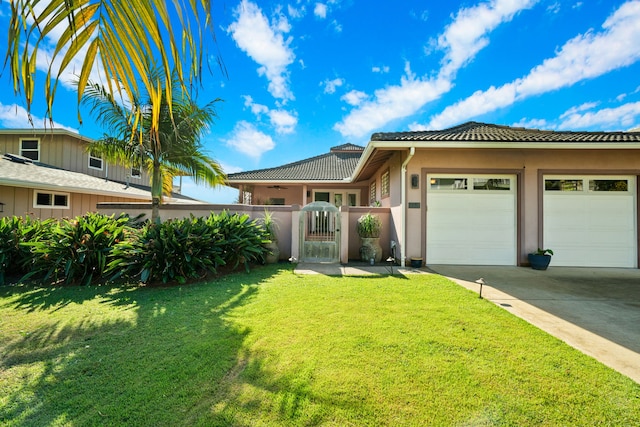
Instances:
[[[240,49],[260,65],[258,74],[269,81],[269,92],[273,97],[294,99],[289,89],[289,66],[295,60],[290,49],[291,39],[284,35],[290,31],[290,25],[284,16],[270,24],[262,10],[254,3],[243,0],[235,9],[236,21],[227,31]]]

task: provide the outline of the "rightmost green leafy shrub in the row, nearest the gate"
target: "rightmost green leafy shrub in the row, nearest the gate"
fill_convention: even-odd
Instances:
[[[185,283],[225,263],[219,242],[202,218],[147,223],[114,247],[108,270],[113,279]]]

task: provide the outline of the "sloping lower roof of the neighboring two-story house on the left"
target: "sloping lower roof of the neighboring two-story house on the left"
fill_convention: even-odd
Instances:
[[[43,163],[12,161],[7,155],[0,158],[0,185],[151,200],[147,190]]]

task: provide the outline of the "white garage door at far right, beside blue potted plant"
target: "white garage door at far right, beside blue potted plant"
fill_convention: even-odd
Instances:
[[[637,267],[636,179],[545,176],[544,246],[552,265]]]

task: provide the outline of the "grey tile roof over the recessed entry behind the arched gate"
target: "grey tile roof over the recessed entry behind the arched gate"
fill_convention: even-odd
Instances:
[[[363,150],[364,147],[355,144],[338,145],[327,154],[283,166],[232,173],[227,182],[344,181],[355,170]]]

